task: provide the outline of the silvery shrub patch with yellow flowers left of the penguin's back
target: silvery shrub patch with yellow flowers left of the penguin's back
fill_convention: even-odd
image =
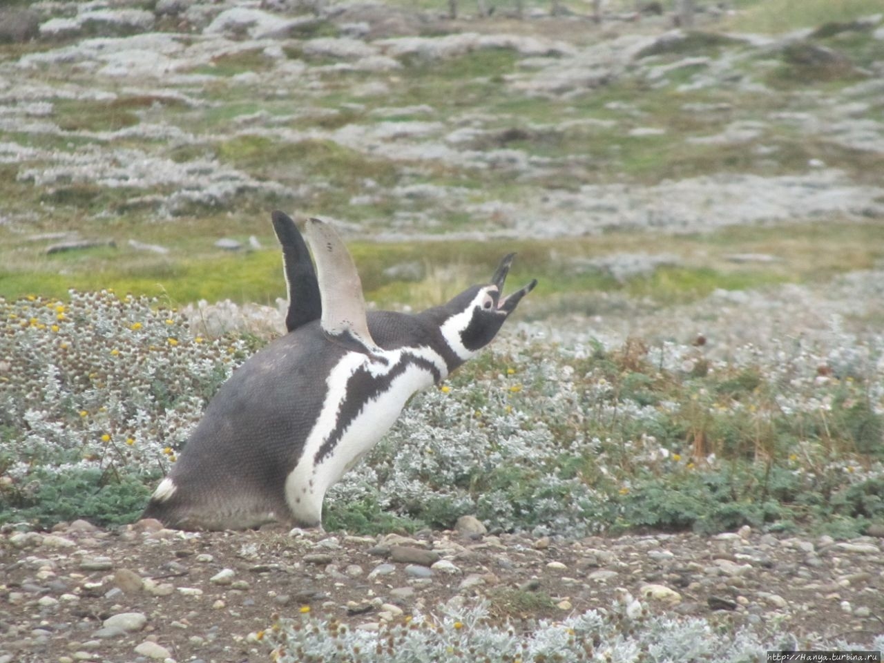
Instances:
[[[108,291],[0,299],[0,319],[0,495],[13,506],[84,472],[164,472],[246,354],[193,337],[156,300]]]

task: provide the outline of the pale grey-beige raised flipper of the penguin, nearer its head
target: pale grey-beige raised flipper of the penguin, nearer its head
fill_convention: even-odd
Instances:
[[[381,352],[371,338],[362,281],[343,240],[331,225],[318,218],[311,218],[305,230],[316,259],[324,333],[347,344],[355,341],[369,354]]]

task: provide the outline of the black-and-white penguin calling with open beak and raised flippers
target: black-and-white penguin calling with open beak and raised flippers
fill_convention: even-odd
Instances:
[[[396,421],[497,334],[536,280],[502,296],[513,254],[491,283],[416,315],[366,314],[354,263],[331,225],[307,245],[273,213],[283,247],[288,333],[250,357],[211,400],[142,517],[183,530],[322,522],[325,492]]]

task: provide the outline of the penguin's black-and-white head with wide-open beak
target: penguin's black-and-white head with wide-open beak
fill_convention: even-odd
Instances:
[[[441,309],[446,318],[440,326],[446,343],[466,362],[497,336],[504,321],[518,306],[522,297],[537,286],[537,279],[522,289],[503,296],[504,282],[515,254],[509,254],[500,262],[492,282],[484,286],[471,286],[458,294]]]

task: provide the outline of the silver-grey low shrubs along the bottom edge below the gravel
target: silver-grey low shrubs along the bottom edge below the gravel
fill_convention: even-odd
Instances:
[[[629,597],[560,621],[537,621],[531,629],[488,619],[487,604],[438,614],[415,614],[377,630],[302,616],[280,619],[261,634],[278,663],[760,663],[767,651],[789,648],[863,650],[812,636],[728,632],[705,619],[651,614]],[[637,610],[636,610],[637,607]],[[884,645],[884,636],[872,649]]]

